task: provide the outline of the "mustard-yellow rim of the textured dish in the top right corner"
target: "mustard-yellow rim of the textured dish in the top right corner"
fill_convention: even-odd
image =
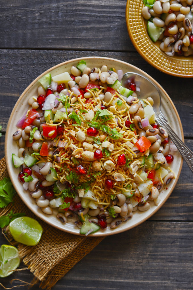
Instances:
[[[147,21],[141,16],[143,0],[127,0],[126,23],[130,39],[139,54],[163,73],[176,77],[193,77],[193,56],[169,57],[160,50],[147,32]]]

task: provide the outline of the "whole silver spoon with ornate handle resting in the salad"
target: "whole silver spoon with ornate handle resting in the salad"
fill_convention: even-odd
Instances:
[[[135,80],[135,84],[140,86],[142,89],[140,91],[140,97],[146,98],[147,96],[151,96],[154,105],[153,109],[156,114],[156,121],[161,127],[165,128],[168,132],[168,135],[178,148],[178,151],[182,155],[185,162],[188,164],[190,170],[193,172],[193,152],[181,141],[181,139],[177,136],[177,134],[172,130],[172,128],[168,125],[168,120],[166,117],[161,113],[161,96],[159,93],[159,89],[155,86],[149,79],[146,77],[139,75],[138,73],[128,72],[125,73],[122,77],[122,85],[127,87],[126,81],[132,78]]]

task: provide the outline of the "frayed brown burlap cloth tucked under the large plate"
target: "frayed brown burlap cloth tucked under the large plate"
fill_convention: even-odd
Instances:
[[[0,160],[0,180],[8,177],[5,158]],[[46,224],[34,215],[21,201],[17,194],[14,195],[14,206],[10,203],[1,209],[0,216],[13,210],[13,213],[25,213],[26,216],[35,218],[43,227],[40,242],[35,247],[18,243],[19,255],[24,264],[34,274],[33,283],[40,281],[42,289],[51,289],[76,263],[87,255],[104,237],[83,237],[65,233]],[[12,241],[8,235],[10,242]]]

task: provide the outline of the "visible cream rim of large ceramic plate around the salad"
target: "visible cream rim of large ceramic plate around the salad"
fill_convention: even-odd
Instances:
[[[16,142],[12,139],[12,134],[17,130],[16,123],[17,121],[23,116],[23,113],[28,109],[28,99],[32,95],[37,94],[37,88],[40,85],[38,82],[38,79],[40,79],[43,75],[46,73],[51,73],[52,77],[54,75],[63,73],[65,71],[68,71],[70,73],[71,66],[75,65],[80,61],[81,59],[84,59],[87,62],[87,66],[90,68],[93,67],[101,67],[102,65],[107,65],[108,68],[114,67],[116,70],[122,69],[123,73],[126,73],[128,71],[133,71],[136,73],[140,73],[141,75],[144,75],[145,77],[149,78],[154,84],[156,84],[159,87],[160,94],[161,94],[161,100],[162,100],[162,112],[168,119],[168,122],[170,126],[173,128],[173,130],[177,133],[177,135],[183,140],[183,130],[181,121],[179,118],[179,115],[177,113],[177,110],[170,99],[170,97],[167,95],[165,90],[149,75],[147,75],[142,70],[138,69],[135,66],[132,66],[131,64],[128,64],[124,61],[120,61],[117,59],[111,59],[106,57],[84,57],[84,58],[78,58],[78,59],[72,59],[70,61],[65,61],[61,64],[58,64],[54,66],[53,68],[50,68],[45,73],[37,77],[22,93],[21,97],[16,102],[9,122],[7,126],[7,131],[5,135],[5,159],[6,164],[8,168],[8,173],[10,176],[10,179],[13,183],[13,186],[18,193],[19,197],[23,200],[23,202],[26,204],[26,206],[39,218],[41,218],[43,221],[47,222],[48,224],[56,227],[59,230],[66,231],[68,233],[73,233],[76,235],[80,235],[79,229],[74,225],[72,222],[68,222],[67,224],[63,224],[60,220],[56,218],[57,211],[55,210],[52,215],[47,215],[41,211],[41,209],[36,205],[35,199],[26,191],[24,191],[23,186],[21,182],[18,180],[18,168],[14,168],[12,164],[12,157],[11,154],[15,153],[18,154],[18,146],[16,145]],[[151,215],[153,215],[163,204],[166,202],[170,194],[172,193],[172,190],[174,189],[174,186],[177,183],[177,180],[179,178],[181,168],[182,168],[182,158],[181,155],[178,152],[174,153],[174,161],[171,164],[171,168],[174,171],[176,178],[170,182],[169,185],[167,185],[167,189],[164,188],[160,192],[160,202],[158,206],[155,206],[154,202],[151,202],[150,209],[145,212],[134,212],[133,218],[130,220],[123,222],[120,226],[118,226],[116,229],[111,229],[109,226],[104,229],[100,230],[93,235],[89,236],[103,236],[103,235],[113,235],[116,233],[120,233],[122,231],[126,231],[128,229],[131,229],[138,224],[141,224],[145,220],[147,220]]]

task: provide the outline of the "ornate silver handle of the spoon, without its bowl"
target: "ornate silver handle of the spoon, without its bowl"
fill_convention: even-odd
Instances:
[[[163,128],[165,128],[168,132],[168,135],[178,148],[178,151],[182,155],[185,162],[188,164],[190,170],[193,173],[193,152],[180,140],[180,138],[176,135],[176,133],[172,130],[172,128],[168,125],[168,122],[166,122],[165,118],[158,113],[156,115],[156,119],[159,125],[161,125]]]

